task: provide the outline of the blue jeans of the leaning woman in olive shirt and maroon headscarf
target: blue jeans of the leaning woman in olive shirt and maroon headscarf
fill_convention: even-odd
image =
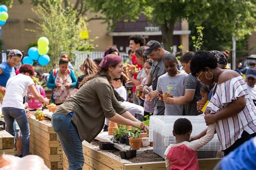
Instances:
[[[84,165],[82,141],[71,118],[70,114],[53,114],[51,125],[69,160],[69,169],[82,169]]]

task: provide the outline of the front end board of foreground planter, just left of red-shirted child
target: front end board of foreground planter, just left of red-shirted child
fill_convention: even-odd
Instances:
[[[124,170],[137,170],[137,169],[166,170],[166,167],[165,167],[164,161],[124,164]]]

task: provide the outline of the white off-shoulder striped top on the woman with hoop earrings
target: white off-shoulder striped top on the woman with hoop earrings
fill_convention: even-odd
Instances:
[[[256,132],[256,108],[252,98],[248,94],[247,86],[241,76],[232,78],[214,87],[215,94],[212,96],[207,110],[212,114],[222,110],[239,97],[245,96],[245,108],[233,117],[218,120],[216,124],[216,132],[220,140],[222,149],[225,150],[234,144],[236,140],[241,138],[243,131],[249,134]]]

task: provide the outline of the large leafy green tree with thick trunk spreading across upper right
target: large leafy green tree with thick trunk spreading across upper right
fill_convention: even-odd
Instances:
[[[208,21],[210,26],[238,38],[255,30],[255,1],[87,0],[87,3],[94,12],[105,16],[110,28],[121,19],[134,21],[144,13],[149,21],[160,26],[167,50],[173,45],[173,30],[178,19],[188,19],[196,26]]]

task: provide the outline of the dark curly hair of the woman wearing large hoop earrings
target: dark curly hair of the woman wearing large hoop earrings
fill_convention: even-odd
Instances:
[[[215,69],[218,67],[217,58],[209,51],[198,51],[191,59],[190,71],[193,76],[200,71],[205,71],[205,67]]]

